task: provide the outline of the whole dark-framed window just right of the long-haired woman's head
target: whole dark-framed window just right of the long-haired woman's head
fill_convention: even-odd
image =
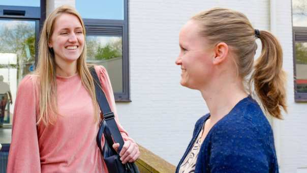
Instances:
[[[85,23],[87,62],[107,69],[115,101],[130,101],[128,0],[76,0],[76,9]]]

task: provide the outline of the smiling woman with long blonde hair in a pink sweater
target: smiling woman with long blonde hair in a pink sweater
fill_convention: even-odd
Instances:
[[[35,73],[19,84],[7,172],[107,172],[96,143],[100,112],[85,27],[74,8],[61,6],[47,17],[38,57]],[[133,162],[138,146],[118,123],[108,73],[102,66],[95,70],[125,141],[122,163]]]

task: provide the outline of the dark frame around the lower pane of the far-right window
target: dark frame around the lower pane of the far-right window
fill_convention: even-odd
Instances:
[[[307,93],[298,93],[296,85],[296,42],[307,42],[307,27],[293,26],[293,74],[294,74],[294,100],[295,102],[307,102]]]

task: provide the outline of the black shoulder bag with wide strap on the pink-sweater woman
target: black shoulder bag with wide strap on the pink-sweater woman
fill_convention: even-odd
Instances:
[[[139,169],[135,163],[127,162],[122,164],[119,154],[122,146],[124,146],[124,140],[122,139],[118,130],[117,124],[114,120],[114,113],[111,111],[108,101],[104,92],[102,91],[101,84],[94,67],[89,68],[91,76],[93,76],[96,90],[96,98],[101,109],[102,121],[100,123],[99,131],[97,134],[97,145],[103,156],[103,159],[107,165],[109,173],[139,173]],[[102,135],[105,136],[105,144],[102,148],[101,139]],[[118,153],[113,149],[113,139],[119,143]]]

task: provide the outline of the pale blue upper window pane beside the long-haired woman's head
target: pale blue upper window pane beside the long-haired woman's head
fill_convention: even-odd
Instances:
[[[76,0],[82,18],[124,20],[124,0]]]

